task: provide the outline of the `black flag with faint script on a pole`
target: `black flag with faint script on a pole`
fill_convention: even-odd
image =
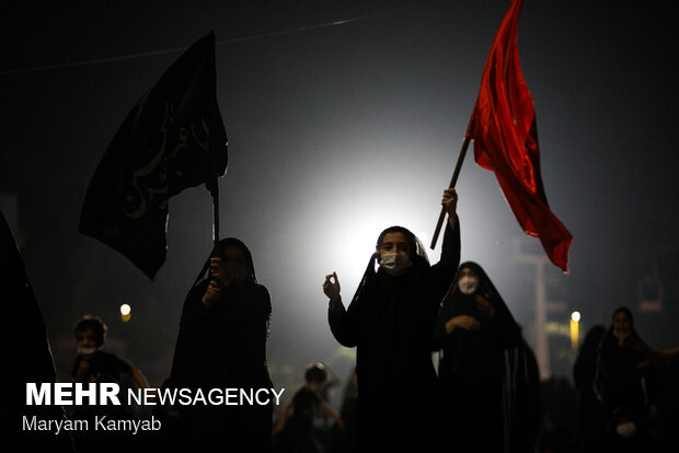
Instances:
[[[100,162],[80,232],[102,241],[153,279],[165,262],[168,199],[227,170],[217,105],[215,34],[186,50],[125,118]]]

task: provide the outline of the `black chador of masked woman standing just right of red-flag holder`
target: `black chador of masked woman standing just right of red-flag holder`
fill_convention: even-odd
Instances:
[[[471,295],[458,287],[465,268],[480,280]],[[492,317],[479,309],[476,294],[493,305]],[[456,328],[449,335],[446,323],[458,315],[474,317],[480,328]],[[538,364],[509,309],[475,263],[460,265],[441,304],[436,335],[442,346],[439,379],[449,439],[465,452],[530,451],[541,417]]]

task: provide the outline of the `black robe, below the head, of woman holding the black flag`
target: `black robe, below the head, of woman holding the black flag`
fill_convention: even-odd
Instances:
[[[273,388],[266,365],[272,312],[268,291],[254,281],[233,281],[209,307],[203,304],[208,280],[186,297],[174,352],[171,386]],[[266,406],[181,406],[177,439],[186,448],[214,445],[225,452],[268,452],[273,402]]]

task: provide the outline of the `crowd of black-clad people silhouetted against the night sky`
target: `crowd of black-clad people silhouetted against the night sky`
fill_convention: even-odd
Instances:
[[[379,235],[347,306],[337,275],[326,276],[330,330],[356,348],[338,410],[329,391],[340,380],[315,362],[276,411],[273,398],[180,405],[152,390],[152,406],[77,404],[65,420],[106,417],[134,427],[152,420],[148,426],[158,429],[50,432],[54,440],[34,451],[679,451],[679,348],[651,348],[621,307],[610,327],[595,326],[584,339],[575,387],[565,379],[540,382],[536,357],[491,278],[475,263],[460,265],[457,197],[446,189],[441,200],[448,222],[438,263],[429,263],[411,231],[391,226]],[[249,248],[222,240],[186,295],[172,370],[159,392],[273,391],[271,313]],[[149,390],[139,369],[104,350],[106,330],[97,316],[77,323],[72,382]]]

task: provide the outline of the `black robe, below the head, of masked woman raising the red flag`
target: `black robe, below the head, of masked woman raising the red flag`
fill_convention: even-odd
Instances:
[[[436,435],[437,379],[431,362],[438,304],[460,260],[459,224],[446,226],[440,262],[393,277],[370,266],[345,310],[331,301],[330,327],[357,347],[357,437],[360,451],[428,451]]]

